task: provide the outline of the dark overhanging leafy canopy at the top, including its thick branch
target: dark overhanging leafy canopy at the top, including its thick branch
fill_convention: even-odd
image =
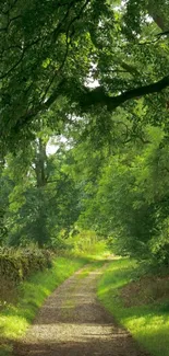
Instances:
[[[68,115],[93,116],[93,111],[99,115],[100,106],[109,112],[121,105],[130,108],[145,96],[144,105],[154,112],[149,119],[158,120],[157,105],[166,116],[167,38],[156,36],[159,30],[147,19],[149,13],[162,31],[168,30],[166,9],[167,1],[155,5],[153,0],[148,4],[4,1],[0,9],[3,148],[4,142],[12,149],[14,140],[33,139],[38,114],[49,107],[59,111],[61,97]],[[155,41],[149,41],[152,36]],[[92,79],[97,80],[95,89],[87,87]],[[158,94],[148,95],[154,93]]]

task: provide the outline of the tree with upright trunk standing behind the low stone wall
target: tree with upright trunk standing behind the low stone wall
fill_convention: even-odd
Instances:
[[[44,246],[53,241],[57,246],[61,230],[68,234],[77,219],[79,188],[67,172],[71,153],[58,139],[57,152],[47,156],[48,140],[44,129],[24,151],[5,157],[0,176],[2,244],[34,241]]]

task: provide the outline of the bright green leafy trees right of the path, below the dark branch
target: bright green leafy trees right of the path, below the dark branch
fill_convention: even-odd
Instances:
[[[145,142],[129,141],[111,156],[101,148],[104,160],[85,182],[79,223],[107,237],[118,254],[168,264],[168,136],[147,126],[144,137]],[[88,154],[93,166],[96,153]],[[87,166],[79,175],[82,182]]]

